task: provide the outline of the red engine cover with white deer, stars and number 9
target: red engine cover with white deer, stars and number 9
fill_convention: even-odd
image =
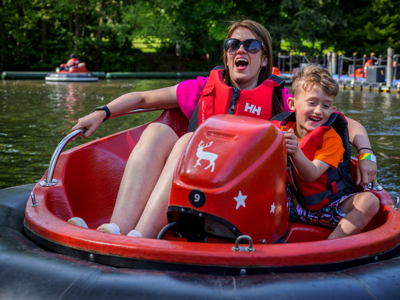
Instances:
[[[182,155],[170,205],[222,218],[255,243],[276,241],[289,220],[283,134],[255,118],[207,119]]]

